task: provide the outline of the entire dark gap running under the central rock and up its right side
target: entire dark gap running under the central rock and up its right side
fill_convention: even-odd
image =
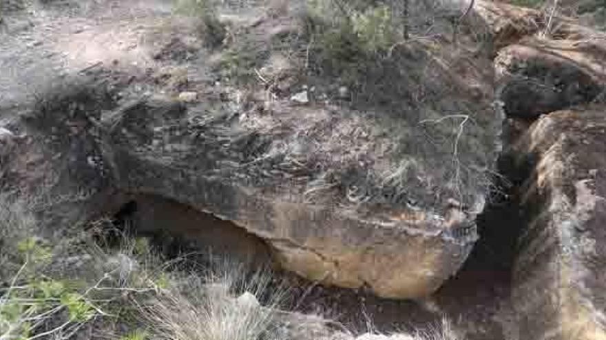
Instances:
[[[513,160],[503,152],[497,183],[499,192],[485,212],[478,217],[480,239],[463,268],[426,301],[382,299],[364,290],[326,287],[276,271],[276,280],[287,277],[292,284],[293,310],[326,315],[353,330],[366,332],[368,322],[381,332],[418,330],[439,327],[443,315],[459,322],[482,324],[481,337],[468,334],[468,339],[505,339],[498,321],[503,304],[509,299],[516,242],[523,227],[516,187],[525,175],[517,174]],[[249,234],[231,221],[221,220],[194,207],[146,194],[130,194],[114,209],[114,225],[136,236],[151,240],[167,258],[183,253],[212,253],[213,256],[236,258],[257,266],[273,263],[271,250],[264,240]],[[205,256],[194,256],[191,262],[207,265]],[[406,315],[406,317],[402,317]],[[463,321],[459,321],[461,315]],[[497,321],[496,321],[497,320]]]

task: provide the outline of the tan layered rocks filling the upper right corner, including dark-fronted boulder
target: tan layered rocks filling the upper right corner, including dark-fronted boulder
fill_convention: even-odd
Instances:
[[[496,96],[508,117],[532,120],[605,99],[603,32],[500,1],[477,1],[474,14],[490,32]]]

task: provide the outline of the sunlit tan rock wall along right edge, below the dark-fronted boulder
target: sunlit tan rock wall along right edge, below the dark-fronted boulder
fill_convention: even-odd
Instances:
[[[516,151],[532,172],[514,304],[526,339],[606,339],[606,107],[541,117]]]

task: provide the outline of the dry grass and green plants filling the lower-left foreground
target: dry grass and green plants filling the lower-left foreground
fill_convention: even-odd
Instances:
[[[163,260],[147,239],[116,234],[105,220],[44,238],[31,202],[0,196],[1,340],[355,339],[334,321],[289,312],[289,287],[268,269]],[[456,337],[445,324],[389,339]]]

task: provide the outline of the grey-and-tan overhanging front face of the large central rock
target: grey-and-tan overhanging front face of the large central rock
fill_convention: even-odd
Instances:
[[[357,174],[322,164],[384,141],[368,139],[370,125],[359,117],[299,106],[257,117],[211,115],[211,109],[147,100],[119,117],[107,115],[105,159],[114,185],[230,220],[263,238],[283,268],[304,277],[369,286],[384,297],[431,293],[477,238],[472,213],[372,204],[370,193],[344,183],[359,180]],[[332,135],[319,131],[330,124]],[[332,178],[311,161],[332,169]]]

